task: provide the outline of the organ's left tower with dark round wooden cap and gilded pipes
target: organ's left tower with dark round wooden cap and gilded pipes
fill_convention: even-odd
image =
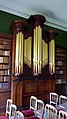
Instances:
[[[12,73],[16,75],[23,74],[24,29],[27,28],[27,26],[26,20],[15,20],[10,25],[13,31]]]

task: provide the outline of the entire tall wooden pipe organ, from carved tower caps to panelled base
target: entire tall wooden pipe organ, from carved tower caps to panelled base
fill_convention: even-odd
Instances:
[[[31,95],[45,101],[55,90],[54,39],[56,31],[45,30],[45,17],[31,15],[11,23],[11,98],[18,107],[29,106]]]

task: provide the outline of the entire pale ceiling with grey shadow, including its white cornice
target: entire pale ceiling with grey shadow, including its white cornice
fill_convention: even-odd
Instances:
[[[0,0],[0,10],[25,18],[42,14],[46,25],[67,31],[67,0]]]

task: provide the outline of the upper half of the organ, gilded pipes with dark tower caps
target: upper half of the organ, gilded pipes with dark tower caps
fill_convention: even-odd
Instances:
[[[24,63],[32,70],[32,75],[42,74],[42,69],[48,64],[50,74],[55,73],[55,41],[52,38],[54,37],[52,36],[53,31],[47,31],[47,38],[46,36],[43,38],[45,21],[46,19],[42,15],[31,15],[27,21],[16,20],[12,22],[11,29],[14,34],[13,74],[23,74]],[[29,26],[31,26],[31,31],[28,31],[27,34],[25,30],[29,30]]]

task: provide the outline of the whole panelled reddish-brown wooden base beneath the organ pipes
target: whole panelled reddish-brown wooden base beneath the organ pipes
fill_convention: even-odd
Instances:
[[[49,100],[49,93],[54,91],[53,80],[12,80],[11,98],[18,107],[29,106],[30,96],[34,95],[43,101]]]

